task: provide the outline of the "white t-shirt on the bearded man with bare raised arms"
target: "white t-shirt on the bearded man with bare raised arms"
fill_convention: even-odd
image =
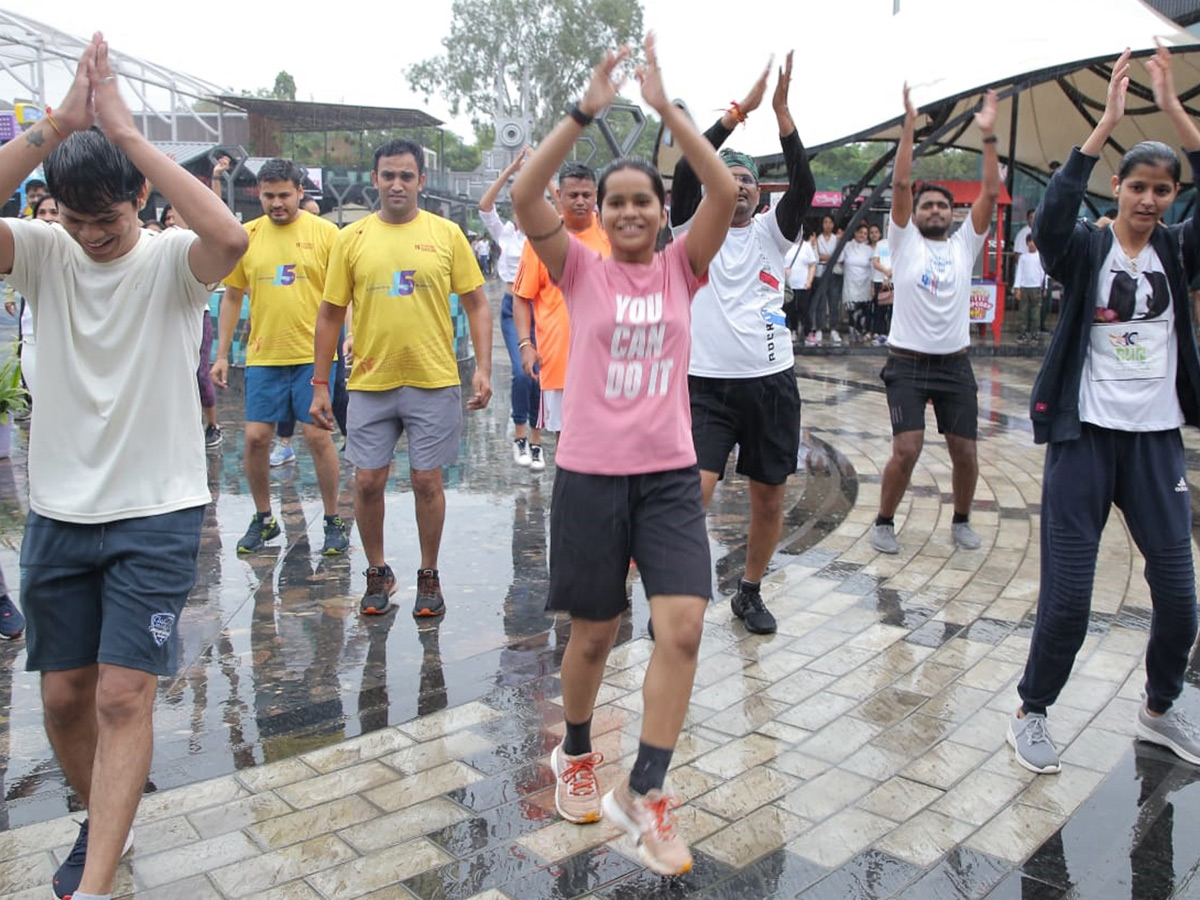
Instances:
[[[988,240],[970,216],[949,240],[923,238],[908,220],[892,222],[892,282],[895,284],[888,346],[916,353],[958,353],[971,346],[971,272]]]

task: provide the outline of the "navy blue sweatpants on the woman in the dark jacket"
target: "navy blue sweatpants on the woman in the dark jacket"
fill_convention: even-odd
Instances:
[[[1146,558],[1153,602],[1146,706],[1166,712],[1183,690],[1196,637],[1183,440],[1178,430],[1112,431],[1085,422],[1078,440],[1046,449],[1038,618],[1018,685],[1027,713],[1045,713],[1058,698],[1087,635],[1096,553],[1112,504],[1124,514],[1129,534]]]

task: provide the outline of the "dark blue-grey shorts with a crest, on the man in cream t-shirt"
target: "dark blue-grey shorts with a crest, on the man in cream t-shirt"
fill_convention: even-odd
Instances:
[[[104,662],[173,674],[203,521],[204,506],[103,524],[30,511],[20,545],[25,668]]]

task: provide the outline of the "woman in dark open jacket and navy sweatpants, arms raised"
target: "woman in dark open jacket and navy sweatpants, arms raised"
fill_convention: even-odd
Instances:
[[[1200,130],[1175,94],[1165,48],[1146,70],[1154,102],[1200,173]],[[1088,174],[1124,115],[1128,88],[1126,50],[1112,67],[1104,115],[1055,173],[1033,220],[1043,264],[1063,284],[1063,311],[1031,401],[1034,440],[1049,442],[1042,584],[1008,742],[1018,762],[1039,773],[1060,768],[1046,709],[1087,634],[1100,533],[1114,504],[1146,558],[1154,610],[1138,737],[1200,766],[1200,732],[1172,707],[1196,636],[1180,426],[1200,425],[1200,355],[1188,299],[1200,271],[1200,211],[1182,224],[1162,223],[1178,193],[1180,160],[1165,144],[1144,142],[1112,179],[1111,227],[1076,221]]]

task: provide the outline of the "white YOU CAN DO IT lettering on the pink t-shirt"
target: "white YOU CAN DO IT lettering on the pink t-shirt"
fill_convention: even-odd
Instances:
[[[662,359],[667,326],[662,324],[662,293],[649,296],[617,294],[617,323],[608,352],[606,397],[665,396],[674,360]],[[649,370],[644,360],[650,360]]]

